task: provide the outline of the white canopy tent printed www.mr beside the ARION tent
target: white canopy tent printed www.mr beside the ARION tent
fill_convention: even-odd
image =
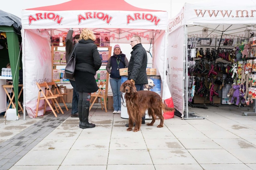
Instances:
[[[169,64],[167,84],[175,108],[184,117],[184,70],[187,59],[187,38],[249,38],[256,26],[256,0],[223,3],[224,1],[203,1],[186,3],[177,16],[169,20],[167,55]],[[255,31],[256,32],[256,31]],[[168,68],[165,68],[168,71]]]

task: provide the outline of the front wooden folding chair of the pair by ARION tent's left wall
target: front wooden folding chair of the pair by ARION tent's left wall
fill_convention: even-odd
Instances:
[[[64,112],[62,111],[62,109],[59,106],[59,103],[56,100],[56,98],[59,97],[59,96],[57,96],[57,95],[54,96],[53,95],[53,93],[51,92],[50,88],[47,87],[47,83],[44,82],[44,83],[38,84],[38,82],[36,82],[36,85],[37,85],[39,91],[38,91],[38,98],[37,98],[35,117],[37,117],[38,110],[43,109],[43,108],[38,109],[39,101],[40,100],[44,100],[44,114],[45,114],[45,110],[46,110],[46,103],[49,105],[49,107],[53,111],[53,114],[55,115],[55,117],[57,117],[57,114],[55,113],[55,111],[57,111],[57,113],[59,113],[59,110],[60,110],[61,113],[64,114]],[[41,94],[43,95],[43,97],[41,97]],[[56,108],[55,110],[53,109],[49,99],[52,101],[52,103],[56,103],[57,104],[57,106],[54,104],[54,107]]]

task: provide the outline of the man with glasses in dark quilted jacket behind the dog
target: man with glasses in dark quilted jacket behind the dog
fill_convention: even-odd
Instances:
[[[144,84],[148,84],[146,73],[148,55],[139,36],[133,36],[130,45],[133,51],[128,66],[128,79],[135,83],[137,91],[144,90]],[[145,124],[145,115],[142,117],[142,124]]]

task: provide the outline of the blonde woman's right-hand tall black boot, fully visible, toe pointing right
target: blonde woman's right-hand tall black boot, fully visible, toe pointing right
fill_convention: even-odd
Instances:
[[[81,128],[94,128],[95,124],[89,123],[89,108],[90,108],[90,103],[83,101],[82,104],[82,125]]]

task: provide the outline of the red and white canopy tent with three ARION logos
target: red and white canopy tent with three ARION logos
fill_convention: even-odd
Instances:
[[[153,65],[163,78],[167,22],[167,12],[137,8],[123,0],[118,3],[114,0],[72,0],[23,10],[23,106],[29,116],[35,117],[38,97],[35,82],[52,79],[51,36],[62,36],[69,28],[74,28],[77,34],[86,27],[95,33],[110,32],[112,43],[129,43],[134,35],[140,36],[144,44],[152,40]],[[42,105],[43,102],[39,107]],[[38,112],[38,116],[42,114]]]

